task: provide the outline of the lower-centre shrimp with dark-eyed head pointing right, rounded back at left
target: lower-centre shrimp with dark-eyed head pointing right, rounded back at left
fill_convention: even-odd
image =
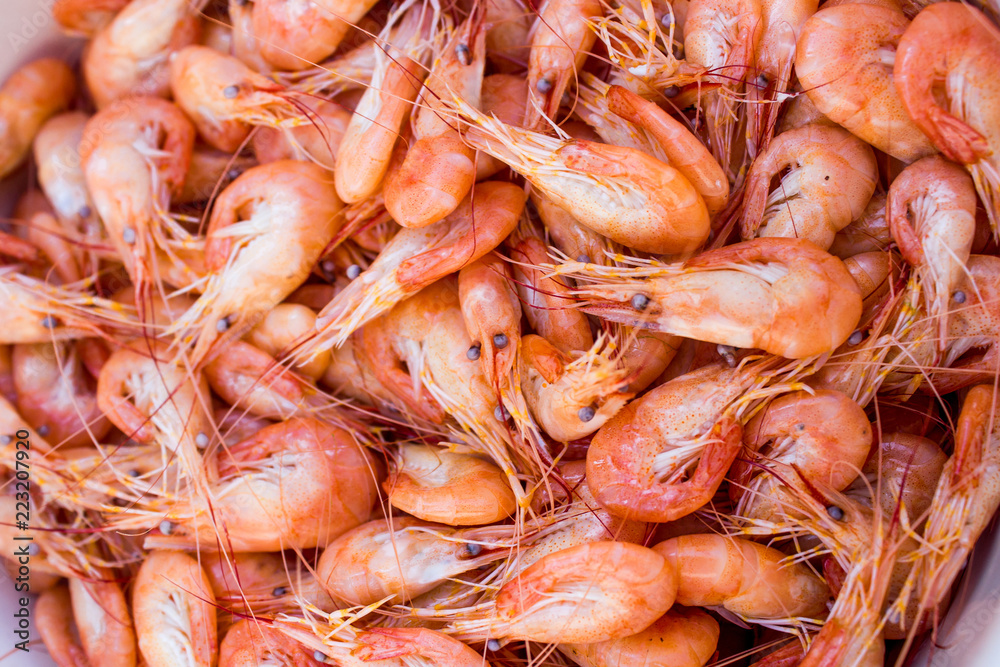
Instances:
[[[316,576],[334,599],[367,605],[385,598],[405,603],[445,579],[506,558],[504,549],[484,549],[498,528],[443,528],[408,517],[378,519],[327,545]]]

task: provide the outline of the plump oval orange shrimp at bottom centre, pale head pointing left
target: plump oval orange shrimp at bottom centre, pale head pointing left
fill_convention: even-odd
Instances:
[[[550,553],[504,584],[486,618],[456,638],[595,643],[642,632],[674,602],[674,568],[652,549],[591,542]]]

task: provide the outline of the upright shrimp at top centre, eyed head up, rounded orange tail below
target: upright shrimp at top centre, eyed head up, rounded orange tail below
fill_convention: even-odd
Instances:
[[[386,174],[385,208],[401,226],[416,229],[441,220],[476,181],[475,151],[444,120],[444,101],[457,94],[478,107],[485,63],[486,31],[474,13],[437,54],[414,113],[414,141]],[[399,142],[396,150],[402,147]]]

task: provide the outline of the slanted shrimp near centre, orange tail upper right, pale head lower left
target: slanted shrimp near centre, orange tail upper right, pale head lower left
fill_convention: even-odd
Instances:
[[[319,333],[306,349],[342,345],[407,296],[485,256],[514,230],[526,199],[511,183],[479,183],[441,222],[400,230],[372,265],[320,312]]]

